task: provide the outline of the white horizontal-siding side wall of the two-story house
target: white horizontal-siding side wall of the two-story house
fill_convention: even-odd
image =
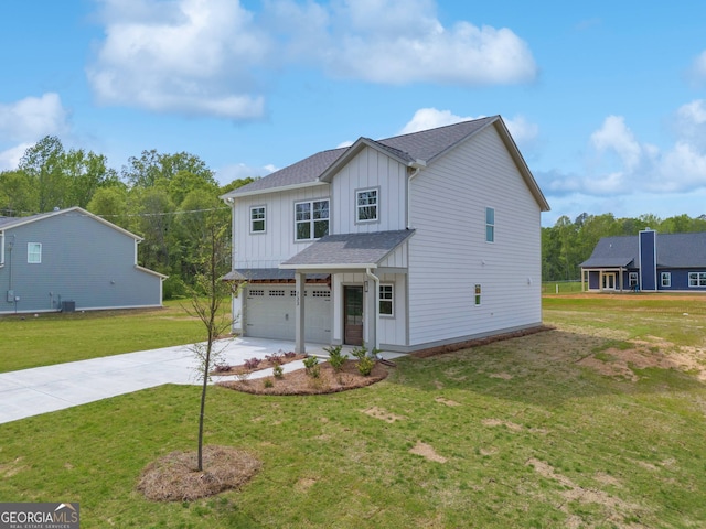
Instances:
[[[539,324],[541,208],[495,129],[422,170],[410,193],[410,345]],[[485,241],[486,207],[494,242]]]

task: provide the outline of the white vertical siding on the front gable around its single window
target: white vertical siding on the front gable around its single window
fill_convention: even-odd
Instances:
[[[404,229],[407,169],[388,155],[366,147],[334,176],[332,215],[335,234]],[[356,222],[356,192],[377,190],[378,218]]]

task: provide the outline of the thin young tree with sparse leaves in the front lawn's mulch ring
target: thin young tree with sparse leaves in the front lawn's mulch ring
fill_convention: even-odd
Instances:
[[[204,237],[200,245],[200,271],[195,278],[195,285],[192,288],[191,309],[188,310],[203,323],[206,331],[206,341],[194,344],[192,349],[200,361],[199,370],[202,376],[201,410],[199,413],[199,472],[203,471],[203,421],[208,374],[223,350],[218,350],[216,341],[229,330],[234,320],[229,312],[222,307],[223,302],[227,301],[232,293],[231,283],[222,280],[231,268],[231,261],[227,253],[224,252],[224,240],[228,239],[228,225],[224,226],[217,215],[212,215],[204,220],[203,233]]]

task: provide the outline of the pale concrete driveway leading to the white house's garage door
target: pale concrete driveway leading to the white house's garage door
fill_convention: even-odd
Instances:
[[[293,350],[292,342],[234,338],[218,342],[224,363],[243,364],[249,358]],[[325,357],[323,345],[307,345],[307,353]],[[395,354],[383,354],[393,358]],[[35,367],[0,374],[0,424],[163,384],[201,384],[196,358],[189,346],[127,353],[89,360]],[[282,366],[285,373],[301,369],[303,363]],[[271,369],[250,378],[271,375]],[[203,379],[202,379],[203,380]]]

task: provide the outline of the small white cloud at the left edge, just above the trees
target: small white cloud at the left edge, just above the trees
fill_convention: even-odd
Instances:
[[[68,111],[57,94],[0,104],[0,141],[38,141],[47,134],[65,133],[68,128]]]

